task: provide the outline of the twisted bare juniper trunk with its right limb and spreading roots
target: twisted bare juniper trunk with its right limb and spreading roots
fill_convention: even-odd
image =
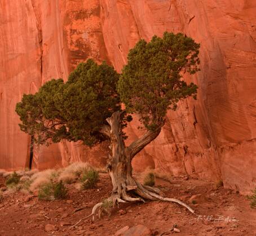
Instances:
[[[112,196],[108,201],[113,202],[113,206],[120,202],[136,202],[145,200],[162,200],[176,202],[186,207],[194,213],[191,207],[174,198],[165,198],[161,190],[140,184],[133,178],[131,161],[133,157],[139,153],[147,144],[154,140],[160,134],[161,127],[155,131],[147,131],[141,138],[131,143],[129,147],[125,146],[122,137],[122,112],[117,111],[107,119],[108,126],[105,125],[101,130],[102,133],[108,135],[111,140],[109,148],[108,173],[111,176],[113,191]],[[98,203],[92,209],[92,214],[95,214],[96,208],[102,203]],[[91,216],[90,215],[90,216]]]

